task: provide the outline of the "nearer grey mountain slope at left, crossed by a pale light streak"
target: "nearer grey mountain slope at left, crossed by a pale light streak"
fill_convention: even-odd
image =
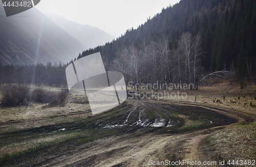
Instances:
[[[0,6],[0,64],[69,62],[86,46],[32,8],[6,17]]]

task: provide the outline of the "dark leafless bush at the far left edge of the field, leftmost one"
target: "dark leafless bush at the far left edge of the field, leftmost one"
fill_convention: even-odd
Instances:
[[[10,107],[24,104],[28,99],[28,94],[29,87],[27,85],[19,84],[18,86],[6,87],[3,91],[1,105]]]

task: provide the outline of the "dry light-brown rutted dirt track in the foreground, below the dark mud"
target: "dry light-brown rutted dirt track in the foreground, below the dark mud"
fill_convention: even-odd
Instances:
[[[213,161],[217,159],[210,159],[211,157],[198,150],[199,144],[204,137],[222,128],[224,127],[173,135],[123,134],[97,140],[35,166],[151,166],[149,160],[166,159]]]

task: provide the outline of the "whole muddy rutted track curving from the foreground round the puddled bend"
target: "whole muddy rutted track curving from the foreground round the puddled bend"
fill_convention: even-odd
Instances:
[[[33,158],[16,166],[117,167],[151,166],[149,160],[217,161],[214,159],[216,157],[208,156],[202,151],[200,143],[203,139],[230,124],[254,121],[253,118],[242,113],[194,103],[154,100],[127,100],[126,103],[119,108],[124,114],[118,115],[115,119],[112,115],[108,115],[108,117],[99,117],[96,121],[87,123],[81,121],[66,126],[67,129],[83,127],[105,129],[122,125],[122,133],[81,145],[69,146],[64,143],[49,148],[44,153],[37,153]],[[189,122],[186,121],[187,118],[195,121],[203,120],[204,124],[194,129],[180,130],[186,122]]]

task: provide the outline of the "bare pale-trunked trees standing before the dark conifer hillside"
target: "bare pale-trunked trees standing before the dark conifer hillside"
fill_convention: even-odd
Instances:
[[[197,34],[183,33],[177,49],[171,49],[168,39],[162,38],[157,43],[143,44],[140,47],[130,45],[117,52],[112,62],[112,69],[124,74],[126,84],[194,84],[200,78],[202,67],[202,40]],[[190,89],[196,89],[190,88]]]

